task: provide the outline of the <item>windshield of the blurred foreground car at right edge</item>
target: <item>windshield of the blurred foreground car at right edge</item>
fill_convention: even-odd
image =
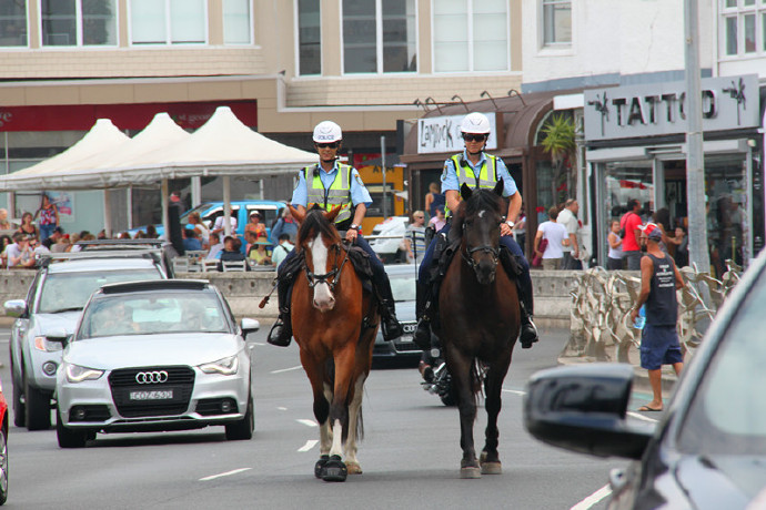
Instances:
[[[766,455],[764,309],[766,285],[759,283],[728,326],[694,395],[679,434],[682,451]]]

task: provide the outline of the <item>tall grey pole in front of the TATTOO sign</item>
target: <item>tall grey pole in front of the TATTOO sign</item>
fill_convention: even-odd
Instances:
[[[702,88],[699,85],[698,0],[684,0],[686,58],[686,196],[688,201],[689,263],[710,271],[705,212],[705,156],[703,152]]]

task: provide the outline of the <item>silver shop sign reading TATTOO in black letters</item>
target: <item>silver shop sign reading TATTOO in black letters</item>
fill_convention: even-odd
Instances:
[[[585,140],[633,139],[686,132],[686,83],[586,90]],[[758,76],[702,80],[703,131],[758,128]]]

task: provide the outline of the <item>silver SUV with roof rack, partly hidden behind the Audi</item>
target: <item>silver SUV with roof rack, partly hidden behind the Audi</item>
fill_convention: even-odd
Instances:
[[[11,327],[13,424],[29,430],[51,426],[51,398],[61,345],[48,340],[51,329],[72,333],[91,293],[104,284],[161,279],[168,274],[155,249],[95,249],[51,254],[41,259],[26,299],[6,302]]]

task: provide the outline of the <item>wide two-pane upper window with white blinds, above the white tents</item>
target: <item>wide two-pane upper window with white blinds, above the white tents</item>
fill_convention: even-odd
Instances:
[[[131,43],[205,43],[206,3],[205,0],[130,0]]]

